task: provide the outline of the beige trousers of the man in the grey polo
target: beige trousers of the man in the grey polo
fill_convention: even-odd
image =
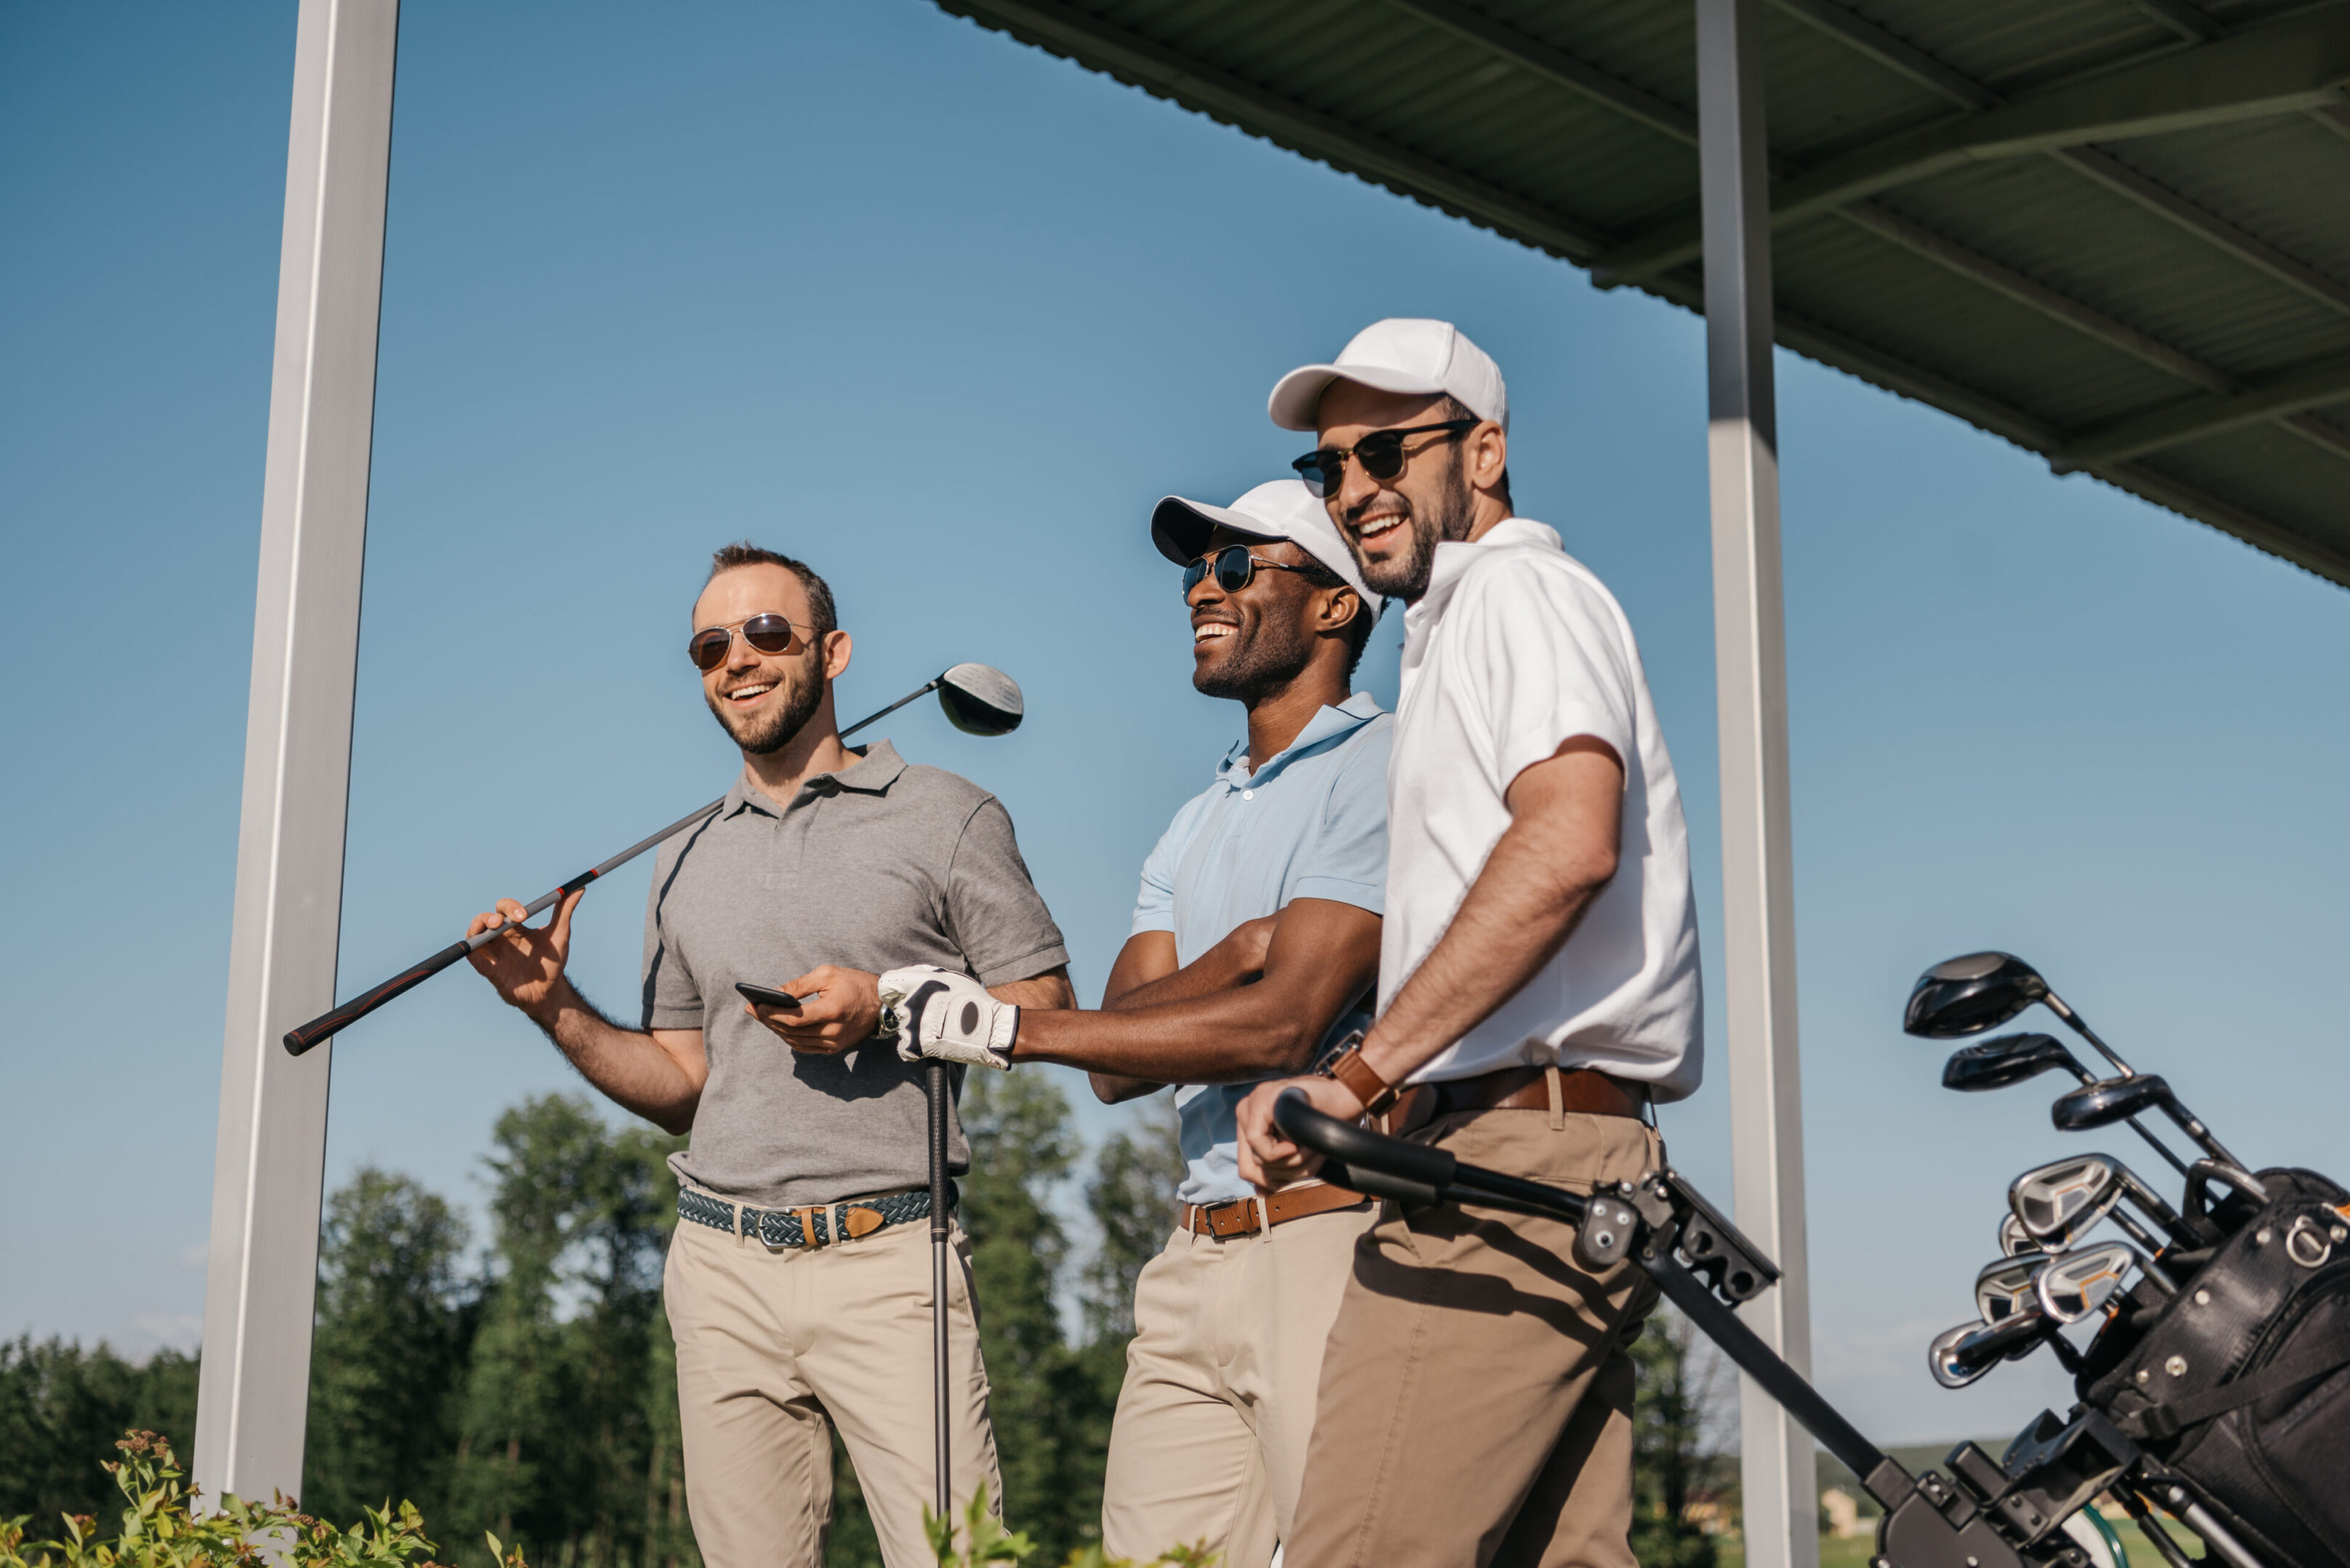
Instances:
[[[987,1368],[971,1305],[971,1244],[947,1269],[954,1497],[1001,1509]],[[931,1222],[813,1251],[768,1251],[679,1220],[663,1281],[677,1335],[686,1505],[707,1568],[818,1568],[832,1523],[832,1429],[865,1488],[881,1561],[935,1568]]]

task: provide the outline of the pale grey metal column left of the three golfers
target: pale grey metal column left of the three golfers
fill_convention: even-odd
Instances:
[[[301,1488],[400,0],[301,0],[195,1481]]]

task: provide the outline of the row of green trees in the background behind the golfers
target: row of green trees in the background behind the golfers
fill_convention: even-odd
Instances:
[[[1058,1084],[973,1074],[980,1340],[994,1389],[1006,1519],[1062,1561],[1097,1537],[1109,1420],[1133,1286],[1163,1246],[1182,1173],[1173,1117],[1090,1161]],[[352,1521],[411,1500],[442,1561],[491,1568],[484,1533],[538,1568],[700,1568],[679,1460],[677,1368],[660,1265],[682,1140],[609,1126],[576,1095],[508,1110],[494,1131],[484,1246],[414,1178],[364,1168],[327,1201],[303,1509]],[[1079,1182],[1090,1246],[1055,1194]],[[1716,1495],[1716,1413],[1685,1326],[1636,1342],[1640,1535],[1647,1568],[1711,1568],[1690,1502]],[[99,1460],[125,1427],[195,1439],[195,1359],[129,1363],[99,1345],[0,1342],[0,1519],[94,1514]],[[1173,1542],[1170,1542],[1173,1544]],[[827,1568],[879,1568],[855,1472],[834,1443]]]

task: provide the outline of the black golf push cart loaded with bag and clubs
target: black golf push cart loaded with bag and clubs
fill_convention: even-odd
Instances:
[[[1960,1443],[1948,1474],[1908,1474],[1755,1338],[1734,1309],[1779,1269],[1676,1171],[1582,1197],[1323,1117],[1295,1091],[1274,1121],[1337,1164],[1330,1180],[1405,1208],[1563,1220],[1584,1267],[1645,1269],[1882,1505],[1878,1568],[2120,1563],[2117,1542],[2096,1556],[2082,1544],[2110,1542],[2087,1512],[2108,1495],[2171,1568],[2197,1559],[2157,1512],[2202,1537],[2207,1563],[2350,1568],[2350,1192],[2312,1171],[2249,1171],[2164,1079],[2134,1072],[2005,952],[1929,969],[1904,1027],[1955,1039],[2033,1004],[2094,1046],[2113,1077],[2092,1074],[2052,1034],[2002,1034],[1950,1056],[1943,1086],[2002,1088],[2061,1067],[2077,1086],[2054,1103],[2056,1128],[2127,1121],[2183,1192],[2169,1204],[2110,1154],[2075,1154],[2012,1182],[2000,1255],[1976,1276],[1976,1316],[1936,1335],[1927,1361],[1955,1389],[2047,1347],[2073,1373],[2080,1403],[2063,1418],[2042,1410],[2000,1458]],[[2141,1112],[2162,1114],[2200,1157],[2178,1159]],[[2087,1241],[2101,1222],[2129,1239]],[[2087,1345],[2063,1333],[2075,1324],[2094,1324]]]

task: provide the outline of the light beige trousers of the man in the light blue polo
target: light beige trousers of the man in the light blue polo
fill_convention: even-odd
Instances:
[[[1255,1237],[1177,1229],[1135,1281],[1135,1338],[1109,1429],[1102,1547],[1156,1561],[1206,1540],[1264,1568],[1288,1535],[1323,1340],[1370,1204]]]

